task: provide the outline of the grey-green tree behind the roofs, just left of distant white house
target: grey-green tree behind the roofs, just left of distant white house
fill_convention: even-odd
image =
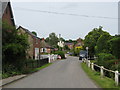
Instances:
[[[58,39],[58,37],[56,36],[55,33],[50,33],[50,34],[49,34],[49,37],[47,37],[45,41],[46,41],[50,46],[56,47],[59,39]]]

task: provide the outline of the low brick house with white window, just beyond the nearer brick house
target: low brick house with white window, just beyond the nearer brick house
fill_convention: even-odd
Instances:
[[[51,51],[53,50],[53,48],[45,42],[45,39],[42,38],[41,39],[41,54],[43,53],[51,53]]]

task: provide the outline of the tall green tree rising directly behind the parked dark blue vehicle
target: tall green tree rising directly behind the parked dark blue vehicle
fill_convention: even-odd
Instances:
[[[84,49],[85,47],[89,47],[89,56],[95,55],[95,46],[97,41],[101,35],[106,33],[102,30],[103,27],[99,26],[99,28],[94,28],[88,35],[85,36],[84,40]]]

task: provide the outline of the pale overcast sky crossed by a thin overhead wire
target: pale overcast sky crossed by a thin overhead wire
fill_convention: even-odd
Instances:
[[[118,33],[117,2],[12,1],[12,9],[16,25],[35,31],[40,38],[55,32],[65,39],[84,39],[99,26],[111,35]]]

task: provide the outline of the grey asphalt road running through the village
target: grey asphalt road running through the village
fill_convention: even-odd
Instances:
[[[97,88],[80,63],[77,57],[69,56],[3,88]]]

